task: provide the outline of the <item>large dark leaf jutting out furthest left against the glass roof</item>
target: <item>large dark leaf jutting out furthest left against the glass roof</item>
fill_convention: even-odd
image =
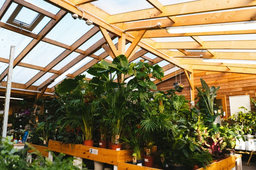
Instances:
[[[82,81],[85,78],[85,75],[76,76],[74,79],[64,79],[58,86],[57,92],[58,93],[67,93],[71,92],[72,90],[76,89],[79,81]]]

